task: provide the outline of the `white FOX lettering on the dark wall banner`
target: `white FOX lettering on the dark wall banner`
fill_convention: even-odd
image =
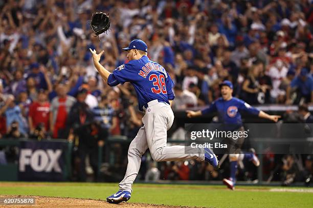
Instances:
[[[21,149],[19,154],[19,171],[25,172],[26,166],[36,172],[62,172],[58,160],[62,154],[61,149]]]

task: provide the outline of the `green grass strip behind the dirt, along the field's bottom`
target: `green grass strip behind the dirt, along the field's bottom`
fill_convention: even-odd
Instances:
[[[280,187],[238,186],[236,191],[223,186],[135,184],[129,202],[200,206],[216,208],[270,207],[312,208],[313,189],[307,192],[270,192]],[[93,183],[0,183],[0,195],[39,195],[102,199],[115,193],[117,184]]]

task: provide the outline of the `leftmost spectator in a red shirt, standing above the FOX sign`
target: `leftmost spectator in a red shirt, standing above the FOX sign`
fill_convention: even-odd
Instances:
[[[38,100],[34,101],[29,108],[28,122],[31,133],[40,123],[44,124],[45,131],[49,130],[49,111],[48,95],[44,90],[40,90]]]

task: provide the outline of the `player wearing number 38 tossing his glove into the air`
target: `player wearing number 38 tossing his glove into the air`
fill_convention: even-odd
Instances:
[[[122,64],[110,73],[100,63],[104,53],[97,54],[90,49],[95,67],[109,86],[130,82],[137,93],[139,110],[144,111],[143,127],[128,148],[128,165],[124,179],[119,184],[119,191],[107,197],[109,203],[120,203],[130,199],[131,187],[141,163],[141,156],[149,148],[154,161],[175,161],[198,159],[217,167],[217,158],[209,148],[185,153],[185,146],[166,146],[167,130],[172,126],[174,114],[171,104],[174,99],[173,82],[160,64],[149,60],[147,45],[142,40],[133,40],[127,51],[127,64]]]

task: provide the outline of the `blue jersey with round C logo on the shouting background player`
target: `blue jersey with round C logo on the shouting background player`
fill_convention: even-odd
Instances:
[[[259,115],[260,113],[259,110],[236,97],[233,97],[230,100],[224,100],[220,97],[212,102],[209,108],[206,108],[201,112],[202,114],[217,112],[220,123],[241,124],[241,111],[246,111],[254,115]]]

